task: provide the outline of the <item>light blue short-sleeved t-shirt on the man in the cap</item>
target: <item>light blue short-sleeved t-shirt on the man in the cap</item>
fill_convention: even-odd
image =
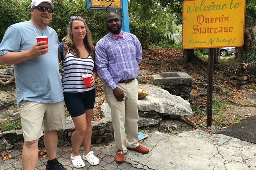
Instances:
[[[63,90],[59,75],[59,40],[54,29],[40,29],[29,21],[13,24],[5,32],[0,44],[0,57],[9,51],[29,50],[39,36],[48,36],[48,53],[14,64],[17,104],[22,101],[57,103],[63,101]]]

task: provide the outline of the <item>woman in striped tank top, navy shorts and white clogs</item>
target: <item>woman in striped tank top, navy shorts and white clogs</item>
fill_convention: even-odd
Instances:
[[[95,103],[94,46],[91,33],[82,16],[71,16],[68,23],[68,34],[64,42],[64,99],[68,112],[75,124],[71,141],[73,153],[70,156],[73,166],[82,168],[87,160],[91,165],[99,164],[99,159],[90,151],[91,118]],[[61,61],[59,50],[59,61]],[[91,74],[91,87],[86,87],[82,75]],[[80,146],[83,142],[84,153],[80,156]]]

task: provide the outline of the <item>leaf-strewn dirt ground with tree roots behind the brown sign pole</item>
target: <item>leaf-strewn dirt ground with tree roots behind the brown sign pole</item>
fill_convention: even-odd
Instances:
[[[194,116],[187,117],[191,122],[200,128],[206,127],[207,114],[207,74],[208,61],[201,58],[205,64],[197,66],[186,64],[179,66],[176,61],[181,59],[183,51],[173,48],[149,48],[143,49],[143,59],[139,64],[140,70],[147,70],[157,74],[160,72],[185,71],[193,78],[193,88],[191,91],[192,100],[189,101],[191,106],[199,108],[201,111],[194,111]],[[222,57],[223,58],[223,57]],[[224,57],[225,58],[225,57]],[[217,125],[219,128],[227,127],[238,123],[247,117],[251,117],[256,112],[256,84],[255,79],[248,82],[245,88],[236,86],[237,80],[228,81],[232,76],[236,75],[240,63],[235,60],[219,60],[220,63],[214,66],[214,101],[222,101],[223,106],[214,108],[223,111],[221,114],[212,115],[212,125]],[[148,80],[151,77],[148,76]],[[147,83],[140,82],[140,83]],[[100,83],[98,84],[100,85]],[[97,84],[96,84],[97,86]],[[102,90],[99,87],[98,90]],[[98,91],[99,92],[99,91]],[[100,107],[103,93],[97,93],[101,96],[99,102],[96,102],[96,109]],[[95,117],[99,115],[99,110],[95,110]],[[95,118],[96,119],[96,118]]]

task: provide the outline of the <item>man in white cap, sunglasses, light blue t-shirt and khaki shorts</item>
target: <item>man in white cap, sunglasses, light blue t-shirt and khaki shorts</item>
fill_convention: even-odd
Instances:
[[[57,159],[57,130],[65,128],[65,110],[59,77],[59,40],[52,20],[51,0],[32,0],[31,20],[11,25],[0,44],[0,64],[13,64],[17,103],[24,137],[23,170],[36,168],[38,140],[44,135],[46,170],[66,170]],[[38,36],[46,41],[36,42]],[[42,131],[44,123],[44,133]]]

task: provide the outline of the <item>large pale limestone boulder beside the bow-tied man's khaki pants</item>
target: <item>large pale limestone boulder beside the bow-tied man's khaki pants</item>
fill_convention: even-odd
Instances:
[[[180,96],[171,95],[168,91],[155,85],[139,85],[147,91],[145,99],[138,100],[139,111],[155,111],[168,117],[192,116],[190,103]]]

